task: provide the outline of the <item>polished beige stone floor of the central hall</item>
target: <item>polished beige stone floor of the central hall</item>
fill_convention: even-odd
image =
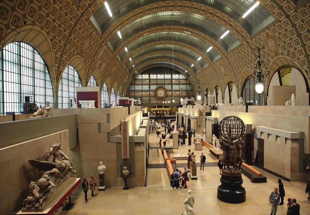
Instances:
[[[150,135],[150,147],[158,147],[159,138],[155,133]],[[188,148],[194,150],[194,146],[187,144],[179,149],[174,149],[174,153],[187,151]],[[277,187],[278,178],[264,170],[260,170],[267,177],[267,183],[252,183],[249,178],[242,175],[243,187],[246,188],[246,201],[241,204],[228,204],[217,199],[217,187],[220,182],[219,169],[216,162],[206,147],[202,151],[194,150],[199,160],[201,152],[206,155],[207,165],[204,171],[197,167],[198,180],[189,180],[188,189],[191,189],[195,198],[194,210],[197,215],[202,214],[250,214],[262,215],[270,214],[271,205],[268,202],[270,192]],[[172,156],[173,154],[171,154]],[[149,164],[164,163],[160,149],[149,150]],[[186,161],[177,161],[177,165],[186,166]],[[155,165],[161,166],[161,165]],[[180,168],[181,169],[181,168]],[[183,169],[183,168],[182,168]],[[282,180],[283,181],[283,180]],[[88,195],[88,202],[84,201],[82,189],[77,195],[73,195],[72,201],[75,203],[70,211],[62,211],[61,215],[129,215],[129,214],[184,214],[184,199],[187,197],[188,189],[172,190],[169,186],[167,171],[164,168],[149,168],[147,187],[131,187],[129,190],[122,190],[121,187],[108,187],[106,191],[95,191],[95,197]],[[310,202],[306,199],[305,182],[286,182],[285,202],[287,198],[296,198],[300,204],[300,214],[310,214]],[[278,215],[286,214],[286,205],[278,207]]]

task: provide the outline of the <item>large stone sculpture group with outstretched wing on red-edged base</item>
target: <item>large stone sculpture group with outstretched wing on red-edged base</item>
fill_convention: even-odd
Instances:
[[[44,171],[38,181],[31,181],[28,187],[28,196],[23,201],[22,212],[42,211],[47,201],[55,191],[68,178],[76,178],[76,170],[71,159],[62,151],[61,144],[53,144],[43,154],[42,161],[28,160],[29,164],[39,171]],[[52,156],[52,161],[49,161]]]

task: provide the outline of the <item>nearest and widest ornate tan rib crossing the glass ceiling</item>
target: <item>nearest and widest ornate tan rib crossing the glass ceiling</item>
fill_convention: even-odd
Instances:
[[[102,37],[102,39],[104,43],[107,43],[123,26],[144,16],[164,11],[183,11],[204,16],[217,22],[224,28],[227,28],[242,44],[245,44],[246,41],[250,41],[250,35],[234,19],[213,7],[188,1],[158,2],[138,8],[115,22],[113,26],[104,33],[105,37]]]

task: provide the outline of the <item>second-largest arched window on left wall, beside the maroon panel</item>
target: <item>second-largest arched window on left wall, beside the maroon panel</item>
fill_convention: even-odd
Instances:
[[[58,107],[70,108],[72,101],[75,101],[75,88],[82,87],[80,76],[76,69],[68,65],[61,76],[58,89]],[[77,103],[77,101],[75,101]]]

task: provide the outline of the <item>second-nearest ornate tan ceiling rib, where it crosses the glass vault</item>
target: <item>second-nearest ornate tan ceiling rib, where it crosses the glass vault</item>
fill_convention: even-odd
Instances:
[[[135,34],[134,36],[130,37],[126,41],[122,42],[122,44],[115,50],[114,56],[119,55],[119,53],[125,47],[128,47],[132,43],[132,41],[136,41],[136,40],[138,40],[142,37],[148,36],[150,34],[158,33],[158,32],[179,32],[179,33],[185,34],[184,31],[191,32],[191,34],[190,34],[191,36],[196,37],[197,39],[204,41],[206,44],[209,44],[210,46],[212,46],[212,48],[215,49],[215,51],[217,51],[217,53],[221,57],[227,56],[227,51],[218,42],[216,42],[211,37],[209,37],[206,34],[203,34],[201,32],[198,32],[193,28],[186,28],[183,26],[176,26],[176,25],[157,26],[157,27],[145,29],[145,30]]]

